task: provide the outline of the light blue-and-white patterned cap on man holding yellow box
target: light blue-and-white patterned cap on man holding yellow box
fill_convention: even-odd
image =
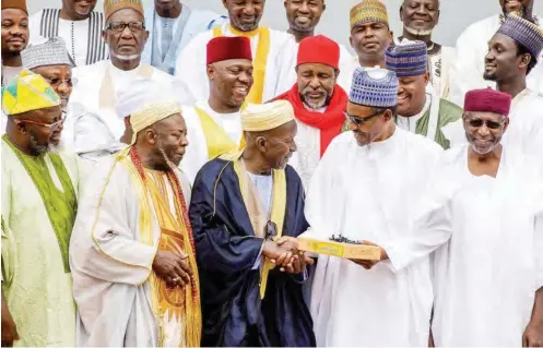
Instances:
[[[398,77],[393,71],[380,68],[357,68],[353,73],[353,84],[349,100],[374,108],[397,106]]]

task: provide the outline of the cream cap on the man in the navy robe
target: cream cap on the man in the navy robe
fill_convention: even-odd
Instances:
[[[241,128],[246,132],[263,132],[294,120],[294,109],[287,100],[249,104],[241,111]]]

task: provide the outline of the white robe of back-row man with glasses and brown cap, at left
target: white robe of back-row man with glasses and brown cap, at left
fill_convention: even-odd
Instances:
[[[149,76],[147,72],[144,72],[144,70],[150,72]],[[107,103],[101,103],[101,91],[104,87],[103,84],[107,72],[109,73],[111,81],[110,91],[107,93],[109,99]],[[70,104],[80,104],[88,112],[92,112],[95,117],[99,118],[99,120],[94,120],[93,122],[72,122],[71,137],[75,140],[82,137],[92,141],[92,143],[87,144],[85,147],[85,152],[87,153],[104,149],[118,149],[120,137],[125,133],[123,118],[126,115],[118,116],[116,113],[114,108],[115,98],[119,92],[128,91],[135,79],[146,77],[160,84],[170,85],[172,91],[179,91],[179,84],[172,75],[146,64],[140,64],[133,70],[123,71],[117,69],[108,60],[99,61],[92,65],[74,69],[73,76],[78,80],[78,84],[73,88]],[[170,91],[168,91],[168,93],[170,93]],[[182,96],[179,93],[176,93],[176,95]],[[97,128],[96,124],[99,124],[101,127]],[[105,128],[103,125],[105,125]],[[98,134],[97,132],[101,133]],[[104,144],[102,141],[98,141],[98,139],[110,139],[110,134],[113,134],[110,144]],[[96,141],[94,141],[94,139],[96,139]]]

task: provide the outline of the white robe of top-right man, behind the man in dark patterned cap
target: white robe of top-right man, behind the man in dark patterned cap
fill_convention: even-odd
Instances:
[[[485,81],[485,56],[488,52],[488,41],[500,27],[499,15],[471,24],[457,40],[457,58],[452,65],[449,100],[463,107],[465,93],[471,89],[496,87],[496,83]],[[543,28],[543,26],[541,26]],[[543,93],[543,56],[538,58],[538,64],[527,76],[528,87]]]

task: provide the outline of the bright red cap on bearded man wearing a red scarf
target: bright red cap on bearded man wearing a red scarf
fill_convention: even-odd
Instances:
[[[305,63],[321,63],[339,69],[340,46],[323,35],[306,37],[299,43],[296,67]]]

